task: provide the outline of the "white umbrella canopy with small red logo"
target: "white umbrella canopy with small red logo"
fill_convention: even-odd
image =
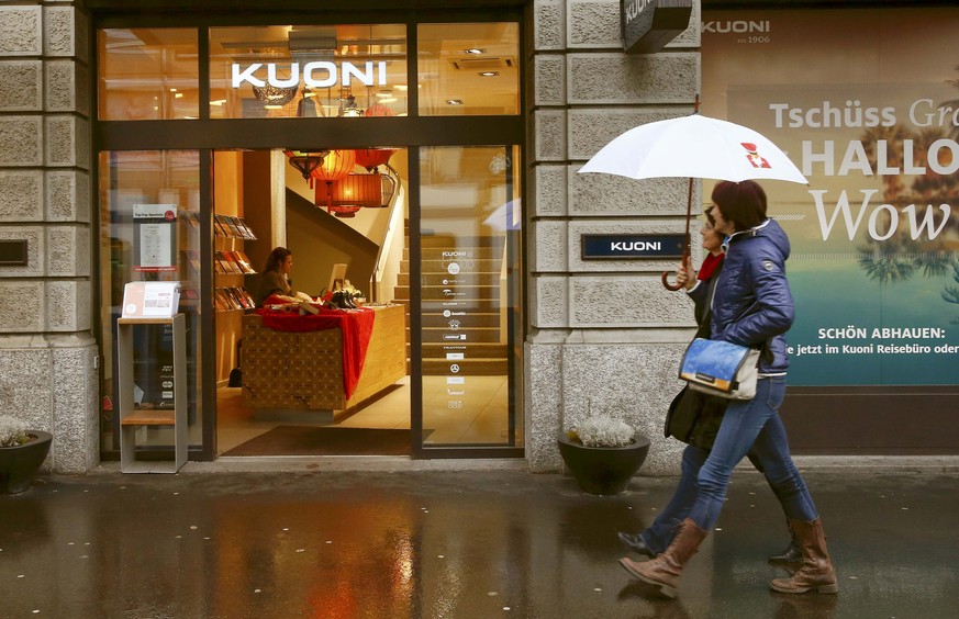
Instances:
[[[632,128],[605,145],[580,172],[632,179],[693,177],[776,179],[807,184],[785,153],[749,127],[700,114]]]

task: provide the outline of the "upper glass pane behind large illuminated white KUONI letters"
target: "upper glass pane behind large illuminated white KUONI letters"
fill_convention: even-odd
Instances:
[[[405,27],[210,29],[210,117],[405,116]]]

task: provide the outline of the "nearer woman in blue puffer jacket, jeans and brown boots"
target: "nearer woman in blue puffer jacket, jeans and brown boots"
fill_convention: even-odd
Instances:
[[[711,337],[761,347],[756,396],[731,401],[713,449],[700,469],[695,502],[666,552],[645,563],[628,558],[620,563],[665,595],[676,596],[683,566],[720,517],[733,469],[751,448],[770,484],[784,488],[780,500],[802,550],[802,566],[789,578],[772,581],[771,587],[781,593],[837,593],[819,515],[789,453],[789,439],[779,417],[789,367],[784,334],[794,315],[785,279],[789,238],[766,216],[766,193],[755,181],[720,182],[712,199],[716,229],[726,235],[726,258],[713,295]]]

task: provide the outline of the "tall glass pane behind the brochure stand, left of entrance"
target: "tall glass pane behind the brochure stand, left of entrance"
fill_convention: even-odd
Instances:
[[[200,160],[197,150],[135,150],[100,154],[100,325],[104,358],[102,398],[104,448],[116,449],[119,367],[116,319],[127,282],[179,281],[186,314],[187,415],[190,444],[201,442],[200,399]],[[155,213],[170,226],[158,247]],[[163,225],[163,224],[159,224]],[[169,236],[167,239],[166,237]],[[137,409],[172,408],[172,338],[169,327],[134,327],[134,403]],[[169,448],[170,426],[147,426],[138,446]]]

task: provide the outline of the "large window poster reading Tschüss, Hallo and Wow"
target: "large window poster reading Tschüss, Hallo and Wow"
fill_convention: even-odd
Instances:
[[[957,382],[957,32],[948,8],[703,11],[702,113],[810,180],[762,183],[792,244],[791,385]]]

